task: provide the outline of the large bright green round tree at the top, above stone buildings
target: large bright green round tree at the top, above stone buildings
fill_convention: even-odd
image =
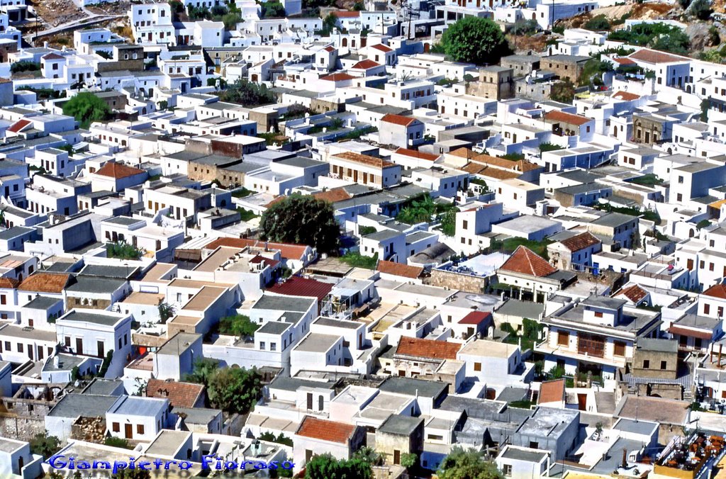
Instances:
[[[499,25],[489,18],[464,17],[441,37],[446,55],[455,62],[494,65],[511,49]]]

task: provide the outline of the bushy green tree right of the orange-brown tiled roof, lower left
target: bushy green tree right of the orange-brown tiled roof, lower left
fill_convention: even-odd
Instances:
[[[257,369],[217,369],[207,388],[211,404],[224,412],[247,414],[260,398],[262,386]]]

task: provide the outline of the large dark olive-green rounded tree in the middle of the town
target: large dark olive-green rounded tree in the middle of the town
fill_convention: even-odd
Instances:
[[[262,240],[309,245],[338,253],[340,225],[333,205],[311,195],[292,195],[268,208],[260,220]]]

